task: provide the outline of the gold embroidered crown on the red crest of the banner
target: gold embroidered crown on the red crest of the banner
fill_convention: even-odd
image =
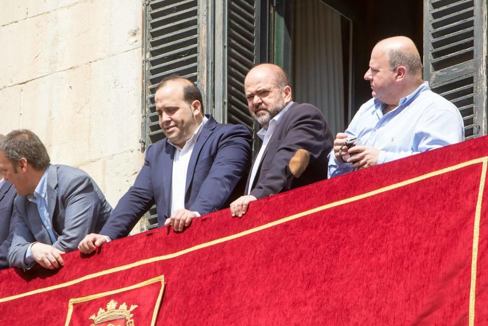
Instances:
[[[107,310],[100,308],[97,316],[91,315],[89,319],[93,319],[93,324],[90,326],[134,326],[131,312],[138,305],[132,304],[130,308],[127,308],[127,304],[124,302],[117,308],[117,304],[117,301],[110,300],[106,306]]]

